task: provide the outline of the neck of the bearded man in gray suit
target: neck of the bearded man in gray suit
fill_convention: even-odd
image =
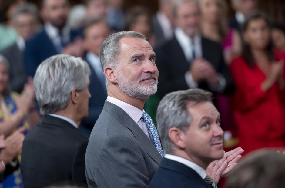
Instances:
[[[144,104],[146,102],[146,100],[142,100],[142,99],[136,99],[136,98],[133,98],[133,97],[130,97],[129,95],[123,93],[121,90],[119,91],[116,91],[116,92],[112,92],[112,91],[108,91],[108,95],[110,97],[113,97],[113,98],[116,98],[120,101],[123,101],[125,103],[128,103],[140,110],[143,111],[143,107],[144,107]]]

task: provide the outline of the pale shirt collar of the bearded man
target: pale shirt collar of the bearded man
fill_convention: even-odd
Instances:
[[[113,103],[113,104],[117,105],[118,107],[122,108],[136,123],[138,123],[139,120],[143,116],[144,110],[142,111],[142,110],[138,109],[137,107],[134,107],[128,103],[120,101],[119,99],[116,99],[114,97],[110,97],[108,95],[107,101],[109,101],[110,103]]]

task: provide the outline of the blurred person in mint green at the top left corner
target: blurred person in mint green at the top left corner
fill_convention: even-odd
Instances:
[[[0,50],[8,47],[17,40],[17,32],[13,28],[12,17],[18,5],[22,5],[25,0],[2,1],[3,21],[0,23]]]

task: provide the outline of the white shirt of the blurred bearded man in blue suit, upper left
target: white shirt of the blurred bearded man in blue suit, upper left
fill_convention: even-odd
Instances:
[[[51,25],[50,23],[46,23],[45,26],[45,31],[47,35],[49,36],[49,39],[52,41],[53,45],[55,46],[56,50],[58,53],[61,53],[63,50],[63,46],[61,43],[61,36],[59,35],[59,29]],[[62,29],[62,41],[67,44],[70,41],[70,28],[68,26],[65,26]]]

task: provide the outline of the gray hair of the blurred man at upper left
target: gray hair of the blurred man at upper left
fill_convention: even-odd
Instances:
[[[39,19],[39,11],[38,8],[32,3],[25,3],[24,5],[18,6],[13,13],[12,19],[13,21],[17,21],[18,15],[21,14],[31,14],[36,20]]]

